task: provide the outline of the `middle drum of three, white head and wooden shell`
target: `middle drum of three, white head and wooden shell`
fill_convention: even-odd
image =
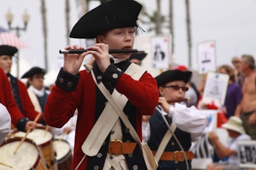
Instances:
[[[16,131],[14,132],[14,136],[25,136],[25,132]],[[31,139],[36,143],[36,145],[40,148],[40,152],[44,155],[44,162],[46,162],[47,167],[49,169],[54,170],[57,169],[57,161],[55,158],[53,139],[54,136],[51,131],[45,131],[45,127],[39,126],[33,131],[29,132],[28,139]]]

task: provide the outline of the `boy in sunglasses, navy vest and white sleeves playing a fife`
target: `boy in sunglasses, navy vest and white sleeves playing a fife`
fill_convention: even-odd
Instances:
[[[194,158],[193,152],[188,151],[191,141],[196,141],[204,132],[204,113],[181,102],[188,91],[186,83],[191,74],[191,71],[175,69],[156,76],[159,104],[149,120],[147,143],[159,160],[158,170],[191,169]]]

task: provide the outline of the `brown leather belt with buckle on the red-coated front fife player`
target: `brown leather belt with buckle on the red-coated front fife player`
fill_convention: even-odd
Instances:
[[[111,155],[121,155],[133,153],[137,143],[122,142],[120,140],[111,140],[109,142],[108,153]]]

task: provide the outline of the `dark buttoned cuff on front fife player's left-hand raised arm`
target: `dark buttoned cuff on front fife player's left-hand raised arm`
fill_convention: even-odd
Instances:
[[[55,83],[58,87],[60,87],[60,89],[66,90],[68,92],[74,92],[76,90],[79,78],[79,73],[77,73],[75,76],[68,73],[67,71],[64,71],[63,67],[61,67],[60,73],[58,74]]]

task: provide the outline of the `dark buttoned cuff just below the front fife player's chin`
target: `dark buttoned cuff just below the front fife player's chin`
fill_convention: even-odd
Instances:
[[[115,66],[115,64],[110,64],[102,75],[102,81],[109,83],[112,87],[115,87],[122,74],[124,74],[124,72],[120,68]]]

